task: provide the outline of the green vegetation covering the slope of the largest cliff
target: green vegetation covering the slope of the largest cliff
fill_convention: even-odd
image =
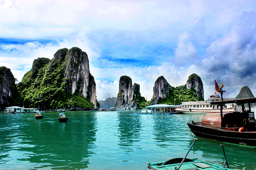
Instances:
[[[79,91],[74,94],[71,93],[70,80],[65,77],[69,61],[64,59],[67,59],[68,52],[70,55],[70,53],[76,53],[77,50],[77,47],[69,51],[60,49],[50,61],[46,58],[38,58],[34,61],[33,68],[24,75],[22,81],[17,85],[21,94],[21,102],[25,107],[40,109],[80,108],[85,110],[94,108],[90,99],[84,98],[79,94]],[[35,64],[37,65],[34,66]],[[91,77],[90,75],[90,79]],[[81,81],[79,79],[78,83]],[[91,90],[91,88],[92,81],[89,82],[88,89]],[[90,93],[89,90],[87,94]]]

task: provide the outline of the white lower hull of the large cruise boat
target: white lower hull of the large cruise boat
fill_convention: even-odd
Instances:
[[[184,114],[208,114],[208,113],[220,113],[220,109],[196,109],[196,108],[176,108],[178,112],[182,112]],[[235,108],[223,108],[223,113],[231,113],[234,112]]]

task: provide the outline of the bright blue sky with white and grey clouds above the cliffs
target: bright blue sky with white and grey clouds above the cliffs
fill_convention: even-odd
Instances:
[[[126,75],[150,100],[154,82],[201,77],[234,98],[256,95],[254,0],[0,0],[0,66],[22,81],[38,57],[79,47],[89,57],[98,100],[116,97]]]

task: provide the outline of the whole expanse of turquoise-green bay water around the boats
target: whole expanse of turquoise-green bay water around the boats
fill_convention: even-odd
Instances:
[[[0,169],[147,169],[153,161],[184,157],[195,138],[187,122],[203,115],[134,115],[123,112],[65,112],[68,122],[47,112],[0,113]],[[188,157],[232,169],[256,169],[256,147],[198,138]]]

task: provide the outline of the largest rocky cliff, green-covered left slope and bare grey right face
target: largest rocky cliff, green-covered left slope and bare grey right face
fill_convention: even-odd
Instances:
[[[99,108],[88,56],[77,47],[58,50],[52,60],[36,59],[18,87],[26,107]]]

